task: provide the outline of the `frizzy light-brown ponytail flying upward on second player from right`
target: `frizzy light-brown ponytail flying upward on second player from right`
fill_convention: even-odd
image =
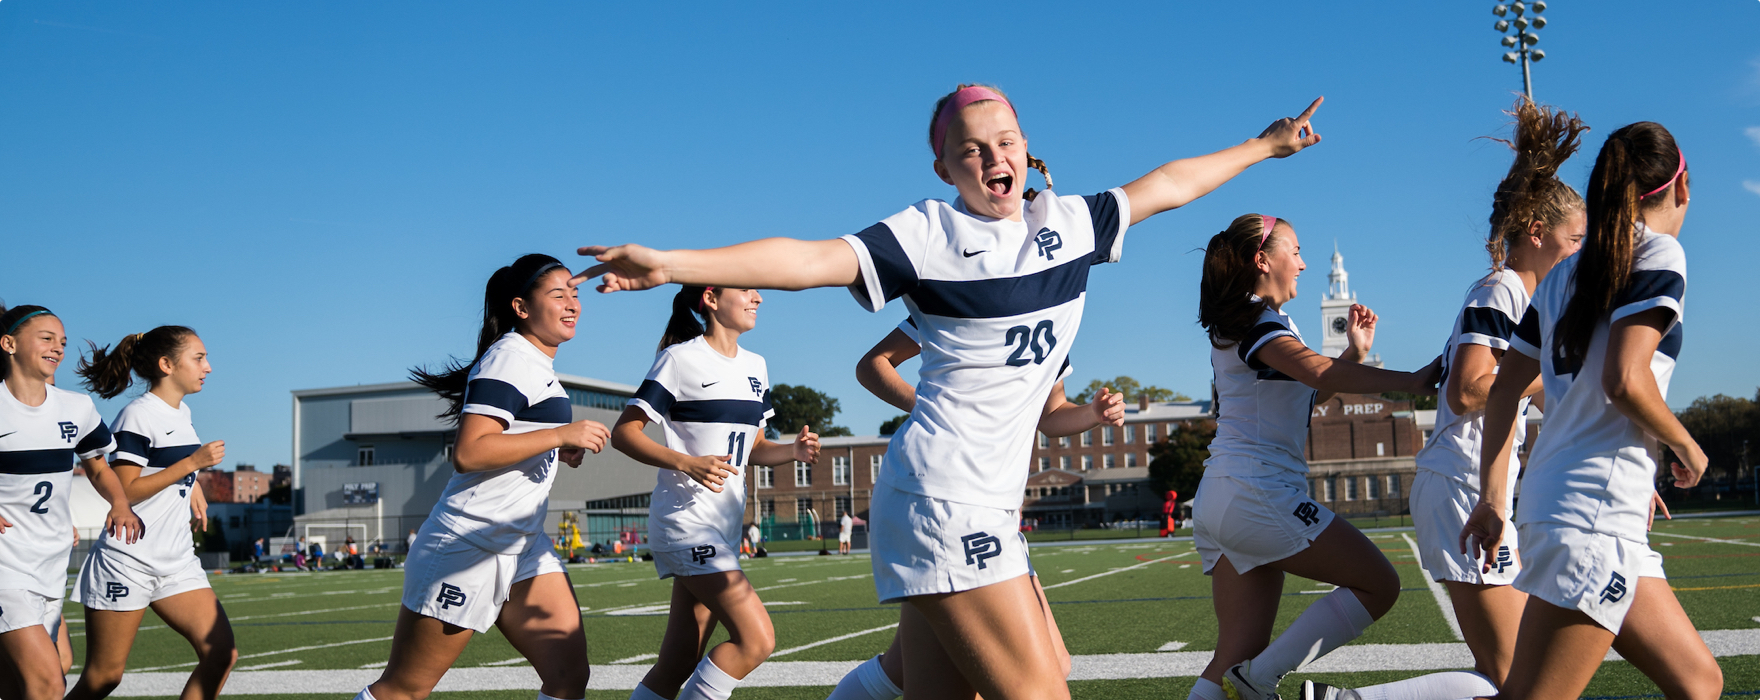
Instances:
[[[1521,244],[1535,222],[1551,229],[1582,209],[1582,195],[1558,179],[1558,167],[1577,153],[1589,127],[1577,114],[1540,107],[1526,97],[1507,114],[1515,118],[1514,141],[1492,141],[1510,146],[1515,162],[1491,197],[1491,236],[1485,239],[1491,269],[1503,267],[1510,246]]]

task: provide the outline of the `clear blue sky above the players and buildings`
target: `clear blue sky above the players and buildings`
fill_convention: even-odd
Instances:
[[[1193,250],[1246,211],[1295,222],[1311,267],[1290,311],[1311,336],[1336,239],[1382,317],[1376,350],[1415,368],[1487,266],[1508,167],[1475,139],[1505,134],[1521,88],[1491,5],[0,2],[0,297],[99,343],[195,327],[216,369],[197,429],[229,461],[285,463],[289,390],[468,354],[484,280],[519,253],[831,237],[950,199],[924,132],[961,81],[1010,93],[1065,193],[1325,95],[1318,148],[1132,229],[1093,276],[1074,383],[1207,394]],[[1693,169],[1670,405],[1751,396],[1760,2],[1545,16],[1536,97],[1595,127],[1566,181],[1637,120],[1674,130]],[[669,297],[588,295],[556,368],[637,383]],[[771,292],[744,345],[873,433],[894,412],[852,369],[901,318],[841,290]]]

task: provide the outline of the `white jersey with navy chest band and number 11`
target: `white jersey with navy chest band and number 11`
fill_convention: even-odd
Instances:
[[[746,348],[727,357],[697,336],[655,357],[628,405],[660,424],[665,447],[692,457],[732,456],[729,464],[739,477],[715,492],[683,471],[660,470],[648,503],[653,551],[739,543],[752,448],[764,436],[766,420],[776,415],[769,390],[764,357]]]

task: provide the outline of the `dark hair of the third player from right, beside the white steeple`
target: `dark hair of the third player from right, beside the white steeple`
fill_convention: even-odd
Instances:
[[[1290,225],[1281,218],[1278,223]],[[1241,215],[1204,246],[1199,325],[1209,331],[1213,346],[1239,343],[1258,324],[1258,315],[1265,313],[1265,301],[1253,301],[1253,287],[1258,281],[1258,252],[1272,250],[1280,241],[1278,223],[1265,234],[1262,215]]]

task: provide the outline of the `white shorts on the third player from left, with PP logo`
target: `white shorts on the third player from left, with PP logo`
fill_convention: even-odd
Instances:
[[[563,572],[549,535],[535,535],[517,554],[500,554],[438,528],[422,528],[415,551],[403,563],[403,607],[447,624],[488,631],[502,616],[514,584]]]

